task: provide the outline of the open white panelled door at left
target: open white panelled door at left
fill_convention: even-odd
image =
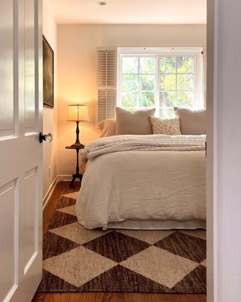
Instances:
[[[42,0],[0,0],[0,301],[42,277]]]

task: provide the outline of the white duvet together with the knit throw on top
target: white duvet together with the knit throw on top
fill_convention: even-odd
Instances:
[[[205,220],[205,139],[149,135],[92,141],[82,153],[82,161],[89,161],[76,203],[79,222],[94,229],[127,219]]]

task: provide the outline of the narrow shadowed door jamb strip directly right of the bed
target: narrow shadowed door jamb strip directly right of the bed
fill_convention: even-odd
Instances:
[[[214,133],[216,134],[217,113],[214,114],[214,0],[207,0],[207,161],[206,161],[206,202],[207,202],[207,302],[214,300],[214,210],[216,210],[216,198],[214,197]],[[216,108],[215,108],[216,109]],[[215,142],[216,143],[216,142]],[[215,172],[214,172],[215,170]],[[215,180],[216,181],[216,180]],[[214,206],[215,200],[215,206]],[[216,218],[215,218],[216,222]],[[216,284],[215,284],[216,288]]]

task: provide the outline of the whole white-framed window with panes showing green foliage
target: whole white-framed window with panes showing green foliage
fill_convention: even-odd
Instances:
[[[173,107],[203,108],[202,48],[118,48],[117,106],[156,108],[173,117]]]

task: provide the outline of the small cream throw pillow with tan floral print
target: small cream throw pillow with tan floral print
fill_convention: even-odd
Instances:
[[[149,116],[153,134],[181,135],[180,117],[159,118]]]

